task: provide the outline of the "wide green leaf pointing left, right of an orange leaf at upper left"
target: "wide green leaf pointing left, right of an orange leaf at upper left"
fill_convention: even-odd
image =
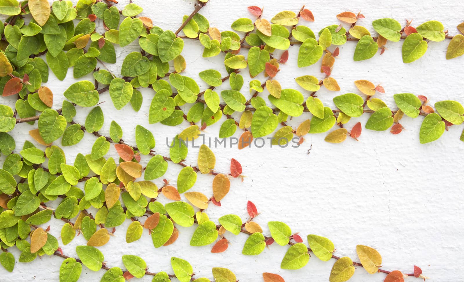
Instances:
[[[64,91],[64,97],[71,100],[81,107],[92,107],[97,105],[99,97],[98,91],[95,90],[95,85],[88,80],[79,81],[71,84]]]

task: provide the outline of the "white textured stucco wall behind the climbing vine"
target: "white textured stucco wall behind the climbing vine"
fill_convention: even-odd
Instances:
[[[194,1],[135,1],[145,10],[143,16],[153,19],[155,25],[163,29],[175,31],[181,24],[184,14],[193,11]],[[122,9],[126,1],[117,6]],[[404,26],[405,19],[414,19],[417,26],[427,20],[440,20],[445,30],[449,29],[454,35],[458,31],[456,26],[463,21],[462,11],[464,3],[461,1],[422,1],[422,0],[327,0],[320,3],[304,2],[300,0],[211,0],[200,13],[206,16],[211,26],[219,30],[230,30],[231,23],[240,17],[251,17],[246,7],[250,5],[264,6],[264,17],[271,17],[282,10],[298,11],[306,4],[316,18],[314,23],[301,21],[300,24],[309,26],[315,33],[322,27],[338,24],[335,15],[344,11],[357,13],[359,10],[366,16],[358,24],[366,26],[374,35],[371,22],[374,19],[391,17],[400,21]],[[97,26],[101,26],[97,20]],[[240,34],[243,36],[243,34]],[[454,99],[464,103],[463,93],[463,63],[464,57],[445,60],[446,47],[449,40],[431,42],[429,50],[418,61],[412,64],[403,64],[401,61],[401,43],[387,44],[388,50],[377,54],[364,62],[354,62],[353,52],[355,43],[348,42],[340,47],[340,56],[336,59],[332,76],[340,84],[341,91],[329,92],[323,88],[318,97],[325,105],[333,107],[332,98],[344,93],[359,93],[354,81],[367,79],[375,84],[381,83],[385,94],[376,94],[376,97],[385,101],[392,109],[396,108],[393,94],[411,92],[416,95],[429,97],[431,103]],[[203,47],[196,40],[185,40],[186,47],[182,55],[187,61],[185,75],[193,77],[206,89],[206,84],[199,78],[200,71],[215,68],[226,75],[222,64],[223,56],[202,58]],[[139,50],[136,42],[125,47],[117,48],[118,64],[107,66],[116,74],[120,72],[122,60],[130,51]],[[319,72],[320,63],[310,67],[298,69],[296,57],[298,47],[290,47],[290,58],[287,64],[281,65],[277,79],[283,88],[301,90],[294,78],[301,75],[315,75],[322,78]],[[275,52],[276,57],[280,52]],[[172,68],[172,67],[171,67]],[[248,82],[245,78],[242,93],[248,96]],[[82,79],[93,80],[91,75]],[[264,77],[257,77],[264,81]],[[62,93],[74,82],[72,69],[61,82],[50,71],[50,79],[45,83],[54,93],[53,108],[59,109],[64,99]],[[218,90],[228,89],[224,83]],[[308,92],[302,91],[305,98]],[[144,102],[142,109],[136,113],[129,105],[122,110],[114,109],[110,96],[104,93],[100,101],[107,101],[100,106],[105,115],[105,123],[101,130],[103,135],[109,135],[110,122],[115,120],[123,128],[123,139],[129,144],[135,144],[135,125],[140,124],[153,131],[156,140],[156,152],[168,155],[166,137],[169,142],[182,128],[187,127],[184,122],[177,127],[168,127],[161,124],[148,124],[148,106],[154,94],[153,90],[142,90]],[[267,91],[260,96],[266,97]],[[267,99],[266,99],[267,100]],[[15,97],[0,97],[1,103],[14,105]],[[78,108],[76,122],[84,123],[90,109]],[[239,115],[234,115],[239,118]],[[307,113],[294,118],[289,122],[296,127],[300,122],[309,118]],[[350,121],[347,128],[361,121],[363,125],[368,115]],[[342,144],[334,145],[324,142],[326,134],[307,135],[306,141],[299,148],[247,148],[238,150],[234,148],[212,148],[216,154],[216,169],[228,172],[230,159],[235,158],[243,166],[244,182],[239,179],[232,180],[231,191],[221,201],[222,207],[209,205],[206,210],[210,218],[217,219],[225,214],[234,213],[245,221],[247,200],[253,201],[261,214],[256,221],[263,226],[264,233],[269,234],[267,222],[271,220],[284,221],[289,224],[293,232],[303,235],[307,244],[307,234],[317,234],[329,237],[335,244],[335,255],[350,256],[358,261],[355,246],[365,244],[376,248],[383,257],[383,268],[398,269],[411,273],[413,265],[420,266],[425,276],[431,277],[429,281],[462,281],[463,267],[458,262],[464,253],[464,213],[463,213],[463,183],[462,173],[463,143],[459,135],[461,126],[452,126],[449,131],[433,143],[419,144],[419,127],[423,117],[411,119],[404,117],[402,124],[405,130],[400,135],[386,132],[374,132],[363,129],[359,142],[348,139]],[[206,135],[212,138],[219,132],[221,122],[206,129]],[[27,132],[37,125],[31,126],[22,123],[12,132],[17,142],[17,150],[22,147],[24,140],[32,141]],[[235,137],[241,134],[238,129]],[[95,141],[94,135],[85,133],[84,139],[74,147],[65,147],[66,158],[73,163],[77,153],[89,154],[91,145]],[[57,142],[60,144],[60,142]],[[306,154],[310,145],[312,150]],[[43,146],[38,145],[43,148]],[[186,162],[196,165],[198,148],[190,148]],[[116,156],[114,147],[111,147],[108,156]],[[4,157],[0,158],[3,163]],[[143,158],[146,163],[148,158]],[[171,179],[175,184],[179,166],[169,163],[168,172],[163,178]],[[199,175],[192,191],[211,195],[211,175]],[[161,179],[156,179],[158,186]],[[161,196],[160,201],[166,202]],[[59,237],[63,222],[52,219],[51,233]],[[121,256],[134,254],[141,256],[148,264],[150,271],[165,270],[172,273],[169,263],[171,256],[186,259],[193,265],[195,277],[208,277],[212,279],[211,268],[216,266],[231,269],[240,281],[262,281],[262,272],[278,273],[287,282],[298,281],[328,281],[330,269],[335,262],[322,262],[312,256],[303,269],[289,271],[280,269],[280,261],[287,247],[277,244],[266,248],[259,256],[243,256],[241,250],[246,240],[245,234],[233,236],[227,232],[226,238],[230,241],[229,249],[222,254],[210,253],[211,246],[190,247],[189,240],[194,228],[178,227],[179,239],[168,247],[155,249],[148,232],[144,231],[142,238],[131,244],[125,242],[125,231],[130,224],[116,228],[116,233],[110,243],[99,249],[105,255],[109,266],[123,268]],[[44,224],[45,227],[48,224]],[[59,240],[61,244],[61,240]],[[76,256],[75,247],[85,244],[83,236],[75,238],[70,244],[61,246],[64,253]],[[12,250],[16,259],[18,250]],[[16,263],[13,273],[0,270],[0,281],[58,281],[58,271],[63,259],[60,257],[44,256],[32,263]],[[80,281],[99,281],[103,270],[93,272],[83,267]],[[380,282],[384,274],[368,275],[358,268],[351,281]],[[137,281],[151,281],[146,276]],[[409,277],[412,281],[416,278]],[[175,281],[175,279],[174,279]],[[415,280],[419,281],[419,280]]]

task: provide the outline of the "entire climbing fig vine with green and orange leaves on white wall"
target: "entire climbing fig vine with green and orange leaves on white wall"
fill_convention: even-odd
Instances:
[[[334,109],[324,105],[316,94],[321,87],[342,91],[331,75],[340,52],[338,46],[347,41],[357,42],[352,50],[354,61],[380,56],[387,44],[403,41],[401,59],[409,64],[419,60],[428,45],[443,40],[449,40],[445,59],[463,55],[462,34],[449,35],[436,20],[415,27],[408,21],[402,27],[397,20],[385,18],[372,21],[378,33],[373,37],[366,27],[358,25],[365,16],[352,12],[336,15],[331,25],[315,34],[309,27],[315,17],[304,6],[297,13],[282,11],[271,19],[262,17],[262,8],[250,6],[244,11],[248,17],[232,22],[232,30],[220,31],[199,13],[207,0],[196,2],[180,27],[170,31],[154,26],[143,7],[132,2],[124,7],[116,0],[78,0],[75,4],[69,0],[0,0],[0,14],[6,19],[0,25],[0,263],[7,271],[13,271],[16,262],[28,263],[37,256],[60,256],[64,261],[57,281],[75,282],[85,267],[107,270],[102,282],[123,282],[146,275],[153,276],[153,282],[209,282],[208,278],[197,278],[193,266],[179,257],[170,258],[172,269],[154,273],[142,257],[134,255],[121,257],[125,269],[110,267],[98,249],[108,244],[115,232],[125,232],[128,244],[151,236],[153,248],[162,248],[175,243],[179,236],[176,226],[182,226],[195,229],[191,246],[211,245],[213,253],[227,250],[225,235],[240,233],[249,236],[242,250],[245,256],[258,256],[271,244],[288,246],[282,269],[303,268],[309,254],[322,261],[335,260],[327,274],[330,282],[347,281],[355,266],[370,274],[387,274],[385,282],[404,281],[404,276],[425,278],[417,266],[408,274],[382,269],[380,253],[369,246],[357,245],[358,259],[353,261],[335,256],[335,245],[328,238],[314,234],[302,237],[283,222],[268,222],[266,233],[253,221],[259,212],[251,201],[246,206],[249,218],[225,214],[218,223],[213,222],[206,212],[208,205],[221,206],[220,201],[231,189],[230,179],[242,177],[241,164],[232,158],[230,171],[216,171],[216,156],[205,144],[200,146],[197,164],[187,164],[186,142],[220,122],[219,138],[231,137],[237,128],[243,130],[239,149],[250,147],[253,138],[272,134],[273,145],[284,146],[294,138],[301,144],[303,136],[328,132],[335,124],[340,128],[329,132],[325,141],[340,143],[347,136],[358,140],[363,127],[399,134],[404,115],[423,116],[419,141],[435,141],[447,127],[463,124],[464,108],[459,102],[440,101],[432,107],[425,96],[396,93],[393,98],[398,109],[392,110],[379,97],[386,92],[384,87],[367,80],[353,82],[358,93],[335,96]],[[457,29],[463,33],[464,23]],[[203,46],[204,58],[224,58],[223,66],[199,73],[209,85],[202,91],[193,78],[182,75],[189,63],[182,51],[192,40]],[[133,51],[118,61],[117,48]],[[296,61],[289,60],[289,52],[297,53]],[[121,77],[106,64],[121,65]],[[285,88],[277,80],[282,75],[281,64],[297,68],[320,64],[320,74],[325,77],[319,79],[316,73],[296,77],[299,89]],[[92,81],[79,80],[63,93],[54,91],[50,84],[43,85],[50,71],[64,80],[71,76],[71,67],[72,77],[88,78],[91,74]],[[244,76],[252,78],[246,90],[242,90]],[[216,87],[223,83],[230,87],[217,93]],[[152,89],[153,94],[142,95],[140,90],[144,88]],[[267,97],[260,96],[264,90],[269,92]],[[109,136],[102,135],[103,124],[109,121],[105,121],[99,106],[100,95],[107,92],[115,111],[126,110],[128,104],[139,111],[142,103],[147,103],[149,124],[189,124],[170,136],[173,141],[168,156],[156,153],[153,128],[135,124],[135,144],[122,139],[122,128],[115,121],[110,122]],[[61,95],[64,101],[57,109],[53,100]],[[13,108],[8,106],[12,101]],[[91,110],[81,124],[74,117],[83,107]],[[370,115],[367,122],[356,123],[348,132],[344,124],[364,114]],[[300,115],[308,115],[308,119],[297,128],[287,125],[289,117]],[[34,127],[29,131],[31,141],[16,144],[10,134],[25,122]],[[96,137],[94,143],[75,160],[66,160],[62,147],[81,142],[84,132]],[[464,141],[464,132],[460,139]],[[110,149],[119,159],[105,157]],[[174,165],[182,168],[176,181],[170,183],[163,176]],[[209,195],[195,191],[199,173],[211,175]],[[161,187],[152,181],[155,179],[160,180]],[[159,197],[170,201],[163,205],[157,201]],[[90,209],[96,211],[95,215]],[[63,221],[60,238],[49,233],[47,223],[51,220]],[[121,230],[119,226],[126,220],[132,223]],[[60,245],[70,244],[79,234],[87,244],[76,247],[77,257],[65,255]],[[13,247],[21,251],[19,257],[9,251]],[[212,269],[212,277],[216,282],[247,280],[236,277],[233,269],[220,266]],[[267,272],[263,279],[284,281]]]

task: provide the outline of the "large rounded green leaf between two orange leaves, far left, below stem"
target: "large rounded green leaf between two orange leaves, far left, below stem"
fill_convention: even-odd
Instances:
[[[45,143],[52,143],[63,135],[66,129],[64,116],[54,109],[45,109],[39,117],[39,133]]]

